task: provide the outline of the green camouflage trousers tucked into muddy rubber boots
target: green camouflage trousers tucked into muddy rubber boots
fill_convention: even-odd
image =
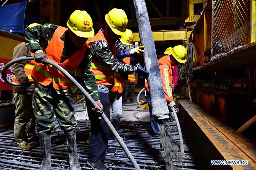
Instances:
[[[38,125],[38,133],[50,134],[55,125],[54,112],[60,128],[66,134],[76,129],[74,100],[71,89],[56,90],[52,83],[48,86],[35,83],[33,111]]]

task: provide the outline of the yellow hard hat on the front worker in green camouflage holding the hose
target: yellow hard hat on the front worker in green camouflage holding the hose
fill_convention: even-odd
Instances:
[[[74,11],[68,19],[67,26],[78,37],[89,38],[94,36],[92,18],[86,11]]]

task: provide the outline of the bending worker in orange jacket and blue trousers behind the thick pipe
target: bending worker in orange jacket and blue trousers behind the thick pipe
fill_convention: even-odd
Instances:
[[[175,107],[175,102],[173,101],[172,97],[172,75],[173,70],[172,66],[178,65],[179,63],[185,63],[187,61],[187,53],[186,48],[178,45],[170,49],[170,53],[163,56],[158,60],[160,74],[162,78],[163,88],[164,88],[164,95],[165,99],[167,100],[168,108],[171,111],[172,107]],[[155,138],[160,138],[160,132],[158,129],[157,122],[152,115],[152,107],[150,103],[150,94],[148,90],[148,82],[145,83],[147,99],[148,99],[148,107],[149,107],[149,115],[150,115],[150,123],[153,130],[153,136]]]

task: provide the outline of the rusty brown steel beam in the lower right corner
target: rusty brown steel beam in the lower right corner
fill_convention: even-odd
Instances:
[[[222,166],[225,169],[256,169],[256,145],[238,134],[235,130],[219,122],[212,115],[189,100],[178,100],[181,114],[186,117],[184,131],[188,142],[199,160],[202,169],[216,169],[221,166],[211,165],[211,160],[247,160],[248,165]],[[187,134],[186,133],[186,134]],[[199,138],[196,135],[199,134]],[[199,147],[198,145],[201,146]],[[196,148],[196,150],[194,149]]]

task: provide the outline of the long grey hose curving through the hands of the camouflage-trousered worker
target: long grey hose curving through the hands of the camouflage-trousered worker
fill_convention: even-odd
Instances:
[[[2,71],[2,78],[3,80],[9,84],[9,85],[21,85],[20,83],[14,83],[10,80],[8,80],[6,78],[6,71],[7,69],[12,66],[14,63],[17,63],[17,62],[20,62],[20,61],[24,61],[24,60],[34,60],[34,57],[27,57],[27,56],[24,56],[24,57],[19,57],[19,58],[16,58],[12,61],[10,61],[9,63],[7,63],[4,68],[3,68],[3,71]],[[84,88],[76,81],[75,78],[73,78],[66,70],[64,70],[62,67],[60,67],[57,63],[54,63],[52,62],[51,60],[48,60],[47,59],[47,62],[48,64],[56,67],[58,70],[60,70],[65,76],[67,76],[78,88],[79,90],[81,90],[85,97],[90,100],[90,102],[92,103],[92,105],[94,107],[97,107],[97,103],[92,99],[92,97],[88,94],[88,92],[86,92],[84,90]],[[99,107],[99,106],[98,106]],[[135,159],[133,158],[131,152],[128,150],[127,146],[124,144],[124,141],[122,140],[122,138],[119,136],[119,134],[116,132],[116,129],[114,128],[114,126],[111,124],[111,122],[108,120],[108,117],[104,114],[104,112],[102,113],[102,118],[104,119],[104,121],[107,123],[108,127],[110,128],[110,130],[113,132],[114,136],[116,137],[118,143],[121,145],[121,147],[124,149],[124,152],[125,154],[127,155],[128,159],[131,161],[132,165],[135,167],[135,168],[140,168],[139,165],[137,164],[137,162],[135,161]]]

